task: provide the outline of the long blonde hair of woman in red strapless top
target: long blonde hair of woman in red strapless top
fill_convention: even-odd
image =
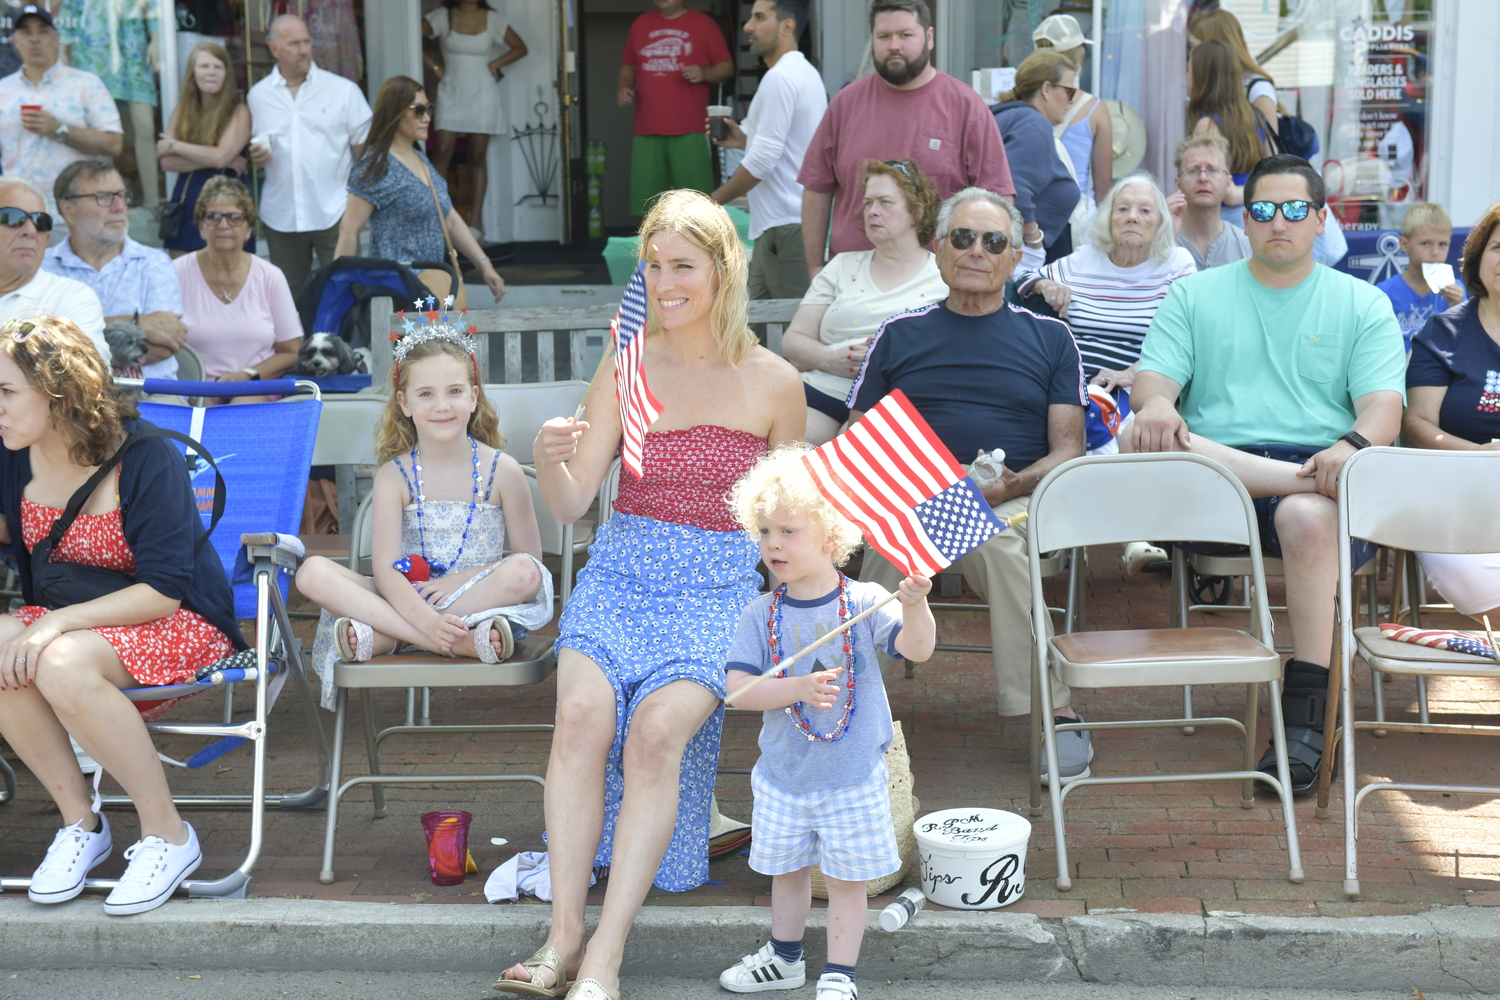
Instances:
[[[718,274],[718,294],[708,312],[714,330],[718,357],[728,364],[740,364],[759,343],[750,331],[747,307],[750,303],[750,277],[746,247],[740,243],[729,213],[708,195],[698,190],[669,190],[663,193],[640,222],[640,259],[650,253],[651,235],[675,232],[714,261]],[[646,303],[646,336],[662,333],[662,316],[656,303]]]

